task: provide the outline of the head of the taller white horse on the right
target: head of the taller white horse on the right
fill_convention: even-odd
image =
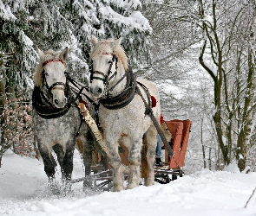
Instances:
[[[90,72],[90,92],[95,98],[102,98],[107,94],[108,87],[116,82],[119,74],[117,68],[128,68],[128,59],[121,48],[121,38],[98,41],[92,35],[94,46],[90,59],[93,61]],[[120,62],[119,62],[119,61]]]

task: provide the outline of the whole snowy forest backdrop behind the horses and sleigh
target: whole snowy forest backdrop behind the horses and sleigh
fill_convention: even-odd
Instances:
[[[36,49],[68,47],[69,73],[88,84],[96,35],[122,37],[135,75],[158,86],[165,120],[192,120],[188,172],[254,171],[254,0],[3,0],[0,23],[0,167],[7,149],[38,158]]]

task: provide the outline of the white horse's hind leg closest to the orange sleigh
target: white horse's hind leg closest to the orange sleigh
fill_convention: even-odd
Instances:
[[[147,163],[148,163],[148,176],[145,180],[145,186],[154,185],[154,158],[157,143],[157,131],[154,125],[151,125],[145,134],[147,139]]]

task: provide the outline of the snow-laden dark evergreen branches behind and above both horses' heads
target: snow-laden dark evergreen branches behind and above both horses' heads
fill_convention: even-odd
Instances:
[[[130,65],[133,68],[147,65],[152,29],[140,10],[141,3],[136,0],[0,1],[0,57],[5,59],[0,64],[3,85],[0,97],[17,98],[18,91],[30,97],[39,57],[36,48],[46,51],[69,47],[69,73],[85,81],[91,35],[100,39],[122,37]],[[1,146],[3,142],[0,151]]]

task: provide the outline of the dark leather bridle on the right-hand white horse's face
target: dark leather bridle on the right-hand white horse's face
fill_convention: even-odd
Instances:
[[[93,79],[99,79],[99,80],[102,80],[103,81],[103,84],[105,86],[106,89],[108,89],[108,86],[109,86],[109,81],[113,78],[116,77],[116,74],[117,74],[117,62],[118,62],[118,59],[116,57],[116,55],[114,53],[104,53],[104,54],[110,54],[112,55],[112,61],[109,65],[109,68],[108,68],[108,73],[107,74],[104,74],[102,73],[101,71],[94,71],[93,70],[93,64],[91,64],[91,68],[90,68],[90,83],[92,82]],[[113,66],[113,63],[115,62],[115,72],[110,76],[110,74],[112,73],[111,71],[111,68]],[[100,74],[103,76],[103,78],[101,77],[96,77],[94,76],[95,74]],[[110,76],[110,77],[109,77]]]

